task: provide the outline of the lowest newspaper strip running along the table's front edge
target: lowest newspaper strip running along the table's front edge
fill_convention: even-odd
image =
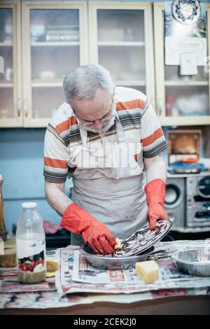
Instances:
[[[36,291],[31,293],[1,293],[0,309],[55,309],[59,307],[72,307],[75,305],[92,304],[95,302],[113,302],[130,304],[144,300],[156,300],[174,296],[208,295],[210,290],[205,288],[183,288],[147,291],[132,294],[102,294],[80,293],[60,297],[56,291]]]

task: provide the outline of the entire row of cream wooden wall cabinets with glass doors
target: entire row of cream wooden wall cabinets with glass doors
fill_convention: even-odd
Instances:
[[[165,65],[164,9],[164,2],[1,1],[0,127],[46,127],[64,102],[65,74],[89,63],[144,92],[162,125],[209,125],[209,73],[199,66],[197,75],[180,76],[179,66]],[[207,16],[210,31],[210,4]]]

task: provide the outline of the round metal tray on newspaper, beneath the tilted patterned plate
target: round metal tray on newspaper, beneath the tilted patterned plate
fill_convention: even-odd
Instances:
[[[132,255],[129,257],[114,258],[112,256],[95,255],[92,249],[85,245],[80,247],[79,251],[85,256],[87,262],[98,269],[130,269],[135,267],[136,262],[143,262],[148,258],[148,255],[152,253],[154,247],[148,248],[139,255]]]

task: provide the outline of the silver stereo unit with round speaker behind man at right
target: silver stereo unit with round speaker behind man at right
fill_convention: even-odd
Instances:
[[[210,231],[210,172],[169,174],[165,210],[172,230]]]

